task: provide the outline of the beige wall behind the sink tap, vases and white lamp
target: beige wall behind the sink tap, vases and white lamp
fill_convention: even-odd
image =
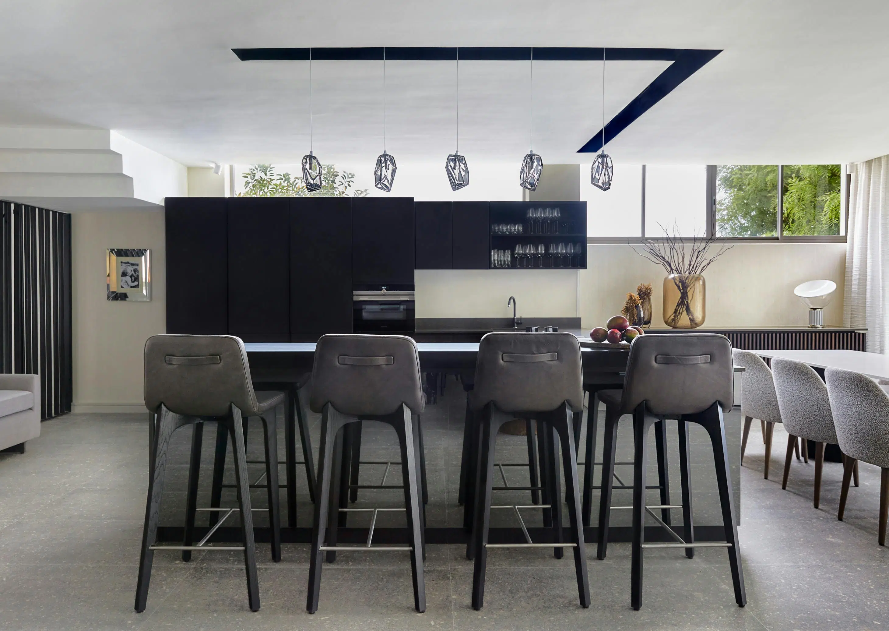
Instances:
[[[705,273],[708,326],[795,326],[808,323],[793,295],[797,284],[816,278],[837,283],[824,323],[843,320],[845,244],[738,244]],[[576,317],[584,327],[621,313],[627,292],[653,285],[653,325],[661,317],[662,268],[626,244],[589,246],[589,268],[559,270],[418,270],[417,317],[507,317],[516,296],[520,315]],[[580,311],[578,311],[578,303]]]

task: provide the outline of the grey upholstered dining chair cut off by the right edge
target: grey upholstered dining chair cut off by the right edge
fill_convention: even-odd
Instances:
[[[839,447],[845,453],[837,519],[843,520],[855,463],[862,460],[877,465],[882,469],[877,541],[885,546],[889,516],[889,395],[873,379],[858,372],[828,368],[824,373]]]

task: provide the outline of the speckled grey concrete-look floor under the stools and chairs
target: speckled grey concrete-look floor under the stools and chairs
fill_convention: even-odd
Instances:
[[[459,454],[461,440],[461,394],[449,387],[444,399],[428,410],[430,495],[436,496],[430,502],[430,521],[459,521],[461,509],[453,490],[459,473],[459,455],[454,454]],[[313,423],[316,430],[316,417]],[[210,436],[204,440],[207,456],[212,432]],[[241,557],[204,552],[191,563],[182,563],[175,553],[157,553],[148,609],[136,614],[132,602],[147,487],[146,416],[71,414],[44,422],[43,434],[28,443],[24,455],[0,455],[0,628],[369,631],[889,625],[889,551],[877,546],[878,469],[861,466],[861,486],[850,493],[845,522],[837,522],[841,467],[825,465],[820,509],[812,506],[813,464],[794,461],[788,490],[781,491],[785,436],[775,431],[773,479],[762,476],[764,448],[756,425],[741,468],[740,533],[749,599],[744,609],[734,603],[725,551],[702,549],[693,560],[671,550],[646,553],[645,603],[642,611],[633,611],[629,545],[613,544],[601,562],[588,547],[589,610],[578,606],[571,555],[557,561],[549,550],[495,550],[489,555],[485,608],[473,611],[472,564],[463,547],[430,546],[426,613],[412,611],[404,554],[377,553],[340,554],[337,563],[325,565],[320,607],[308,615],[308,546],[288,545],[281,563],[271,563],[268,546],[260,546],[259,612],[247,609]],[[255,439],[252,436],[251,443],[258,443]],[[164,523],[177,523],[181,515],[187,431],[175,441]],[[372,432],[367,441],[372,454]],[[510,436],[504,443],[520,453],[524,438]],[[380,451],[380,456],[387,454]],[[363,470],[365,474],[372,472]],[[205,488],[202,484],[202,497]],[[392,491],[368,494],[373,492]],[[254,497],[257,506],[264,506],[261,492]],[[363,495],[359,501],[384,503],[373,499]],[[300,505],[301,524],[310,520],[310,510],[304,492],[300,500],[306,504]],[[395,498],[391,501],[396,503]]]

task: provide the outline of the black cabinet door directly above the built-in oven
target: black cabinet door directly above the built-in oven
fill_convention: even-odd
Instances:
[[[352,198],[352,283],[413,284],[412,197]]]

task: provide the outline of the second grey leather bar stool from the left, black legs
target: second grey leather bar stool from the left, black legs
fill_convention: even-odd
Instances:
[[[324,335],[315,349],[309,406],[321,412],[315,524],[308,569],[306,609],[315,613],[321,589],[324,552],[337,550],[403,550],[411,555],[413,603],[426,611],[423,579],[423,534],[420,507],[420,451],[418,423],[423,411],[420,355],[411,339],[400,335]],[[407,546],[364,547],[337,545],[339,520],[332,515],[356,509],[340,508],[343,434],[349,424],[377,420],[395,428],[401,448],[404,512],[410,541]],[[360,510],[360,509],[358,509]],[[376,509],[369,509],[374,511]],[[332,515],[331,515],[332,514]],[[332,560],[329,559],[329,560]]]

